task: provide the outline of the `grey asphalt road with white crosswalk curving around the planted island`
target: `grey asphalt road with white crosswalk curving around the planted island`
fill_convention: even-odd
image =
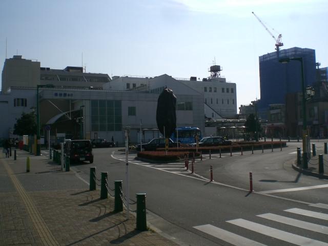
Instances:
[[[130,202],[146,193],[148,222],[180,245],[328,245],[328,182],[291,168],[300,145],[204,155],[196,159],[195,174],[184,162],[149,163],[130,153]],[[72,165],[76,175],[88,182],[90,167],[96,167],[98,178],[109,173],[112,188],[114,180],[123,180],[126,193],[125,153],[106,148],[94,155],[93,164]],[[249,192],[250,172],[255,192]]]

